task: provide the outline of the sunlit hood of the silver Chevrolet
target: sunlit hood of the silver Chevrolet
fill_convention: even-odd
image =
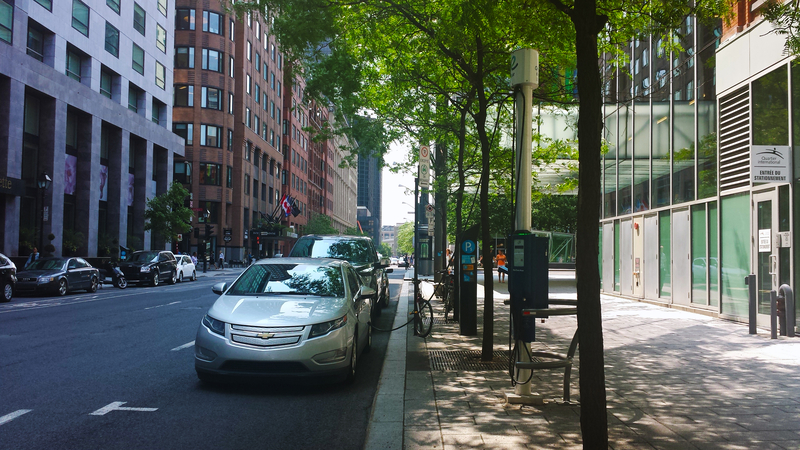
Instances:
[[[347,312],[343,297],[302,295],[223,295],[211,306],[211,317],[237,325],[298,326],[337,319]]]

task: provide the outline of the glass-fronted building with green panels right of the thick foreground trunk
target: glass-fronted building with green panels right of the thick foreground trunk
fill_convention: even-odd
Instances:
[[[755,274],[765,325],[769,291],[794,286],[800,68],[762,26],[690,17],[631,42],[629,63],[604,59],[605,293],[746,321]],[[762,146],[785,150],[794,174],[754,181]]]

